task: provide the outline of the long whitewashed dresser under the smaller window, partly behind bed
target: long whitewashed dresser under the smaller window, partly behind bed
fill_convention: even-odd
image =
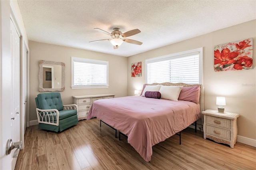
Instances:
[[[114,98],[114,94],[72,96],[73,103],[78,105],[78,121],[86,119],[92,103],[98,99]]]

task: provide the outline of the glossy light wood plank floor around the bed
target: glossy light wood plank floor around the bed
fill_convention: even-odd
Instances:
[[[205,140],[202,132],[182,131],[182,144],[174,135],[153,146],[150,162],[121,135],[98,119],[79,121],[60,133],[27,128],[25,147],[16,170],[225,170],[256,169],[256,148],[237,142],[234,148]]]

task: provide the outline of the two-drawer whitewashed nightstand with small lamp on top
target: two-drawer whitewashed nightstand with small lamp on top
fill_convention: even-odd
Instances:
[[[204,139],[209,138],[218,143],[225,143],[234,148],[237,137],[236,113],[218,113],[215,110],[202,111],[204,115]]]

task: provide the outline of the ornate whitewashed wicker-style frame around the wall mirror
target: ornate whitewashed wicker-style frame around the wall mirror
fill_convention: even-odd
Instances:
[[[61,65],[61,88],[43,88],[43,65],[44,64],[50,64],[50,65]],[[65,86],[64,86],[64,81],[65,81],[65,63],[62,62],[55,62],[55,61],[44,61],[40,60],[39,61],[39,87],[38,90],[40,92],[44,91],[64,91]]]

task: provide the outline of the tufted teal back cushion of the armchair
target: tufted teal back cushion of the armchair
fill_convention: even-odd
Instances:
[[[39,109],[64,109],[59,92],[40,93],[37,95]]]

